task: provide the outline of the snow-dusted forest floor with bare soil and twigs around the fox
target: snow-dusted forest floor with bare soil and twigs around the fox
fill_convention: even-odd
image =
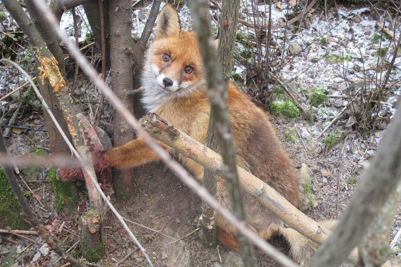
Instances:
[[[134,11],[132,30],[134,36],[138,34],[136,16],[140,18],[139,27],[143,29],[150,4],[151,2],[144,8]],[[243,20],[252,22],[268,17],[268,6],[258,3],[252,8],[252,4],[253,2],[249,1],[241,4]],[[275,1],[271,6],[272,25],[282,23],[291,14],[298,14],[297,8],[302,8],[302,4],[297,5],[296,1],[289,3]],[[288,118],[288,114],[285,116],[277,108],[269,106],[275,114],[271,115],[271,122],[277,129],[277,135],[284,149],[293,160],[294,167],[298,169],[302,165],[308,167],[312,182],[313,207],[304,213],[315,220],[341,218],[361,173],[375,155],[385,130],[395,114],[394,105],[401,90],[401,49],[399,49],[389,79],[391,86],[386,87],[381,98],[382,103],[377,106],[364,104],[375,99],[372,95],[375,88],[384,80],[396,43],[395,38],[389,34],[382,34],[377,22],[382,24],[384,22],[385,28],[390,33],[400,36],[399,13],[390,9],[389,13],[384,15],[385,12],[379,7],[356,7],[346,3],[339,5],[337,9],[332,7],[326,10],[327,12],[324,8],[309,10],[299,28],[291,26],[287,30],[284,28],[273,30],[271,44],[282,49],[271,52],[271,64],[280,71],[277,75],[279,78],[275,80],[276,84],[268,85],[271,92],[275,93],[275,96],[271,96],[271,102],[276,102],[276,107],[288,101],[285,96],[280,96],[283,93],[277,80],[281,79],[288,82],[290,92],[308,110],[306,113],[296,114],[294,118]],[[211,13],[216,12],[214,10]],[[184,27],[190,28],[189,10],[186,4],[180,8],[179,14]],[[82,19],[85,20],[85,16]],[[71,28],[69,12],[63,16],[62,24],[67,31]],[[253,28],[241,24],[239,28],[241,34],[237,39],[255,36]],[[81,41],[84,41],[88,29],[82,26],[82,32]],[[263,96],[255,87],[257,84],[255,79],[259,75],[255,61],[247,58],[252,58],[253,53],[259,52],[263,61],[264,47],[249,48],[240,41],[236,46],[237,57],[233,78],[241,90],[263,106]],[[24,50],[15,53],[21,62],[24,58],[29,60],[24,57],[26,55]],[[31,68],[29,64],[26,65],[28,69]],[[0,73],[2,96],[25,82],[25,79],[11,68],[1,67]],[[68,81],[72,83],[71,79]],[[24,88],[12,98],[0,101],[3,117],[1,124],[8,124],[8,120],[18,107],[18,99],[22,97],[26,99],[28,90]],[[88,102],[98,102],[100,95],[83,74],[78,82],[76,94],[77,99],[81,99],[80,108],[83,108],[89,120],[93,121],[91,113],[97,106]],[[319,102],[321,94],[324,94],[324,98]],[[314,102],[315,100],[317,102]],[[14,125],[45,129],[41,104],[34,96],[27,101],[30,104],[24,102],[17,113]],[[350,106],[357,107],[351,109]],[[318,138],[320,132],[343,109],[344,114],[334,121],[322,137]],[[111,108],[106,108],[101,125],[108,133],[111,133],[110,124],[112,124]],[[371,128],[367,128],[367,124]],[[6,139],[6,145],[12,155],[17,156],[32,153],[37,149],[48,149],[47,139],[46,132],[13,128]],[[44,207],[41,207],[33,197],[30,205],[47,228],[57,233],[56,236],[63,241],[63,249],[71,247],[71,253],[75,257],[80,257],[79,245],[76,243],[79,233],[77,221],[78,215],[89,207],[87,192],[85,190],[79,192],[77,217],[69,218],[58,214],[48,172],[49,167],[43,167],[29,174],[34,182],[28,182],[28,186]],[[113,196],[111,199],[123,217],[138,223],[130,223],[130,228],[146,248],[155,266],[242,266],[239,254],[227,247],[219,245],[216,249],[208,249],[202,245],[202,231],[197,225],[201,200],[170,170],[161,163],[153,163],[135,168],[134,173],[138,186],[133,203],[130,205],[118,203]],[[26,189],[24,186],[24,190]],[[401,227],[400,212],[399,209],[395,215],[391,239]],[[114,266],[135,249],[128,234],[112,213],[107,214],[104,228],[106,256],[94,266]],[[184,237],[186,235],[188,236]],[[180,237],[184,238],[169,244]],[[0,235],[1,267],[64,264],[62,261],[56,263],[57,255],[46,251],[46,246],[43,246],[43,242],[37,236],[32,235],[28,238]],[[288,253],[288,245],[284,240],[275,238],[270,242],[284,253]],[[393,248],[396,254],[400,251],[399,245],[397,243]],[[259,251],[257,251],[257,262],[258,266],[281,266]],[[146,266],[146,262],[143,255],[136,251],[119,266]]]

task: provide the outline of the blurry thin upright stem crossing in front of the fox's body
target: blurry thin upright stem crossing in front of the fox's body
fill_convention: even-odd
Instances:
[[[216,62],[216,51],[213,46],[213,36],[211,34],[210,18],[209,18],[209,6],[207,0],[192,0],[191,3],[191,15],[194,21],[195,31],[199,40],[199,50],[201,50],[203,65],[205,66],[205,73],[207,77],[207,96],[211,102],[211,113],[215,117],[215,127],[217,137],[219,139],[219,147],[221,155],[223,155],[224,162],[224,177],[226,178],[227,192],[231,202],[232,210],[239,220],[244,223],[247,221],[245,212],[244,199],[242,195],[241,185],[238,180],[237,163],[236,163],[236,151],[234,146],[234,138],[231,132],[230,118],[227,104],[227,88],[228,88],[228,77],[227,81],[223,80],[221,74],[220,64]],[[234,18],[238,18],[239,1],[225,1],[223,4],[228,5],[223,8],[231,8],[237,10],[234,14]],[[223,16],[223,28],[227,30],[232,28],[236,30],[237,19],[233,21],[233,18],[229,17],[229,12]],[[221,25],[221,23],[220,23]],[[235,25],[235,26],[234,26]],[[226,36],[227,32],[223,34]],[[228,36],[227,36],[228,38]],[[221,53],[221,58],[228,58],[228,54],[232,55],[234,43],[233,38],[227,41],[227,50],[225,55]],[[227,60],[227,59],[226,59]],[[231,62],[232,60],[228,60]],[[229,69],[230,64],[225,64],[227,72],[231,72]],[[231,66],[232,68],[232,66]],[[238,243],[240,247],[241,258],[245,266],[256,266],[255,251],[249,240],[247,240],[242,234],[237,234]]]

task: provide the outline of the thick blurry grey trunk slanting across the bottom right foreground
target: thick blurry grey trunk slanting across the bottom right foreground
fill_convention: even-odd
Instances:
[[[401,178],[401,114],[389,125],[370,167],[363,172],[356,191],[332,235],[310,261],[310,267],[339,266],[358,244],[389,196],[399,187]]]

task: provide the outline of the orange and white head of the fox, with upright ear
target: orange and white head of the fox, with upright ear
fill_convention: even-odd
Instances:
[[[181,31],[178,14],[170,4],[160,11],[154,36],[142,75],[142,102],[150,112],[206,84],[196,34]]]

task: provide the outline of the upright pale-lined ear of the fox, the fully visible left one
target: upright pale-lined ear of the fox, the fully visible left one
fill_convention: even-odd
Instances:
[[[154,31],[154,38],[176,36],[180,34],[181,26],[177,12],[170,4],[165,4],[160,11],[159,18]]]

